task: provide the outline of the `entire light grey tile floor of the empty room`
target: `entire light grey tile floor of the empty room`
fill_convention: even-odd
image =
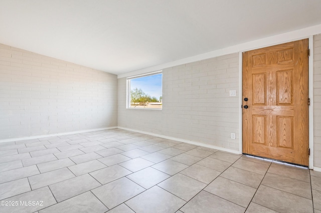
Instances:
[[[122,129],[0,143],[0,212],[321,212],[321,172]]]

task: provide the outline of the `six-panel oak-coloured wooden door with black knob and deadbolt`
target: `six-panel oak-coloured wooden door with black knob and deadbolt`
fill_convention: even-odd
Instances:
[[[243,52],[242,98],[243,152],[308,165],[308,39]]]

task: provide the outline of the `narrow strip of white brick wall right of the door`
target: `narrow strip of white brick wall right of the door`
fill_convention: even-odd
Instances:
[[[313,36],[314,166],[321,167],[321,34]]]

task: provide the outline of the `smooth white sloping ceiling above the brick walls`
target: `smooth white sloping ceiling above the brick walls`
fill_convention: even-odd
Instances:
[[[114,74],[321,23],[321,0],[0,0],[0,43]]]

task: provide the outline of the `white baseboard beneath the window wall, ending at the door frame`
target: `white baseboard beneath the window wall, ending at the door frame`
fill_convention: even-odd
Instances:
[[[162,137],[162,138],[165,138],[165,139],[186,142],[186,143],[190,143],[190,144],[193,144],[193,145],[200,145],[200,146],[204,146],[204,147],[208,147],[208,148],[214,148],[214,149],[218,149],[218,150],[221,150],[221,151],[227,151],[227,152],[231,152],[231,153],[235,153],[235,154],[241,154],[241,152],[238,151],[238,150],[233,150],[233,149],[229,149],[229,148],[223,148],[223,147],[210,145],[210,144],[206,144],[206,143],[201,143],[201,142],[196,142],[196,141],[192,141],[192,140],[186,140],[186,139],[182,139],[182,138],[171,137],[171,136],[167,136],[167,135],[163,135],[163,134],[156,134],[156,133],[152,133],[152,132],[148,132],[148,131],[140,131],[140,130],[136,130],[136,129],[132,129],[132,128],[121,127],[121,126],[118,126],[117,128],[121,128],[121,129],[128,130],[128,131],[134,131],[134,132],[138,132],[138,133],[142,133],[142,134],[149,134],[149,135],[152,135],[152,136]]]

